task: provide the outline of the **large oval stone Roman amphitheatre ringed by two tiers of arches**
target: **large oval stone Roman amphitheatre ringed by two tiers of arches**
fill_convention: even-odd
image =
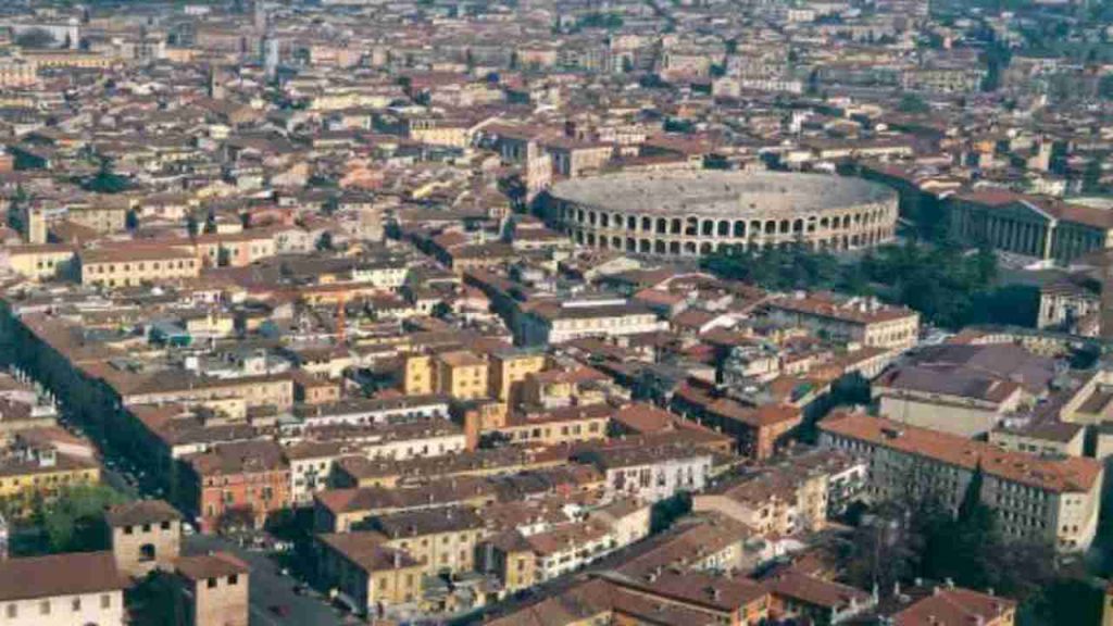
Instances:
[[[574,178],[553,185],[541,206],[577,243],[669,256],[795,242],[854,250],[892,239],[897,221],[895,190],[821,174],[698,170]]]

